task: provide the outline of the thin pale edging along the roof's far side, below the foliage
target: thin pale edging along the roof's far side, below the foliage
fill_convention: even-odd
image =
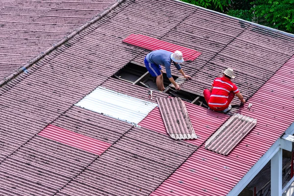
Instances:
[[[187,5],[191,5],[191,6],[194,6],[196,8],[199,8],[199,9],[202,9],[202,10],[205,10],[205,11],[208,11],[208,12],[212,12],[212,13],[215,13],[215,14],[219,14],[221,16],[225,16],[225,17],[228,17],[228,18],[236,19],[238,21],[249,23],[250,25],[255,25],[255,26],[258,26],[258,27],[261,27],[261,28],[264,28],[264,29],[267,29],[267,30],[270,30],[270,31],[273,31],[273,32],[276,32],[276,33],[280,33],[280,34],[283,34],[283,35],[287,35],[287,36],[290,36],[290,37],[293,37],[294,38],[294,34],[292,34],[292,33],[287,33],[285,31],[277,30],[277,29],[274,29],[274,28],[271,28],[271,27],[268,27],[268,26],[259,25],[259,24],[253,23],[253,22],[245,21],[245,20],[240,19],[240,18],[236,18],[236,17],[233,17],[233,16],[229,16],[229,15],[226,15],[226,14],[223,14],[223,13],[220,13],[220,12],[217,12],[217,11],[206,9],[206,8],[200,7],[198,5],[194,5],[194,4],[190,4],[190,3],[187,3],[187,2],[183,2],[181,0],[173,0],[173,1],[177,1],[177,2],[180,2],[180,3],[187,4]]]

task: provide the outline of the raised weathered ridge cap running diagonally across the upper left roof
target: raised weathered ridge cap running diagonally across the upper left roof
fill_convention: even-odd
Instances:
[[[21,73],[26,72],[26,70],[28,68],[30,68],[34,63],[36,63],[37,61],[41,60],[43,57],[45,57],[46,55],[48,55],[50,52],[52,52],[54,49],[57,49],[59,47],[61,47],[62,45],[64,45],[67,41],[69,41],[70,39],[72,39],[75,35],[77,35],[78,33],[80,33],[81,31],[83,31],[84,29],[86,29],[87,27],[89,27],[90,25],[93,25],[94,23],[96,23],[98,20],[100,20],[102,17],[104,17],[105,15],[107,15],[110,11],[112,11],[113,9],[115,9],[116,7],[118,7],[120,4],[123,3],[123,1],[125,0],[116,0],[117,2],[114,3],[113,5],[111,5],[110,7],[106,8],[106,10],[104,12],[102,12],[101,14],[98,14],[96,17],[94,16],[94,18],[91,21],[86,22],[85,25],[80,26],[79,28],[77,28],[76,30],[74,30],[70,35],[65,36],[62,40],[60,40],[57,44],[52,44],[53,46],[50,47],[49,49],[41,52],[40,54],[38,54],[35,58],[33,58],[32,60],[30,60],[27,64],[25,64],[23,67],[19,68],[18,70],[16,70],[14,73],[10,74],[9,76],[7,76],[5,79],[0,81],[0,88],[2,86],[4,86],[5,84],[7,84],[9,81],[11,81],[12,79],[14,79],[16,76],[20,75]]]

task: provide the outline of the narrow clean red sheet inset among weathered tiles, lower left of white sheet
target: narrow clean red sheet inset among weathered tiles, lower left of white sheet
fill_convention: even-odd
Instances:
[[[49,124],[38,135],[100,155],[111,144]]]

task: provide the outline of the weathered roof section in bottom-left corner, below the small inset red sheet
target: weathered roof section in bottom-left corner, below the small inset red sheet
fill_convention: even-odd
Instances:
[[[36,136],[1,163],[1,196],[52,196],[98,155]]]

